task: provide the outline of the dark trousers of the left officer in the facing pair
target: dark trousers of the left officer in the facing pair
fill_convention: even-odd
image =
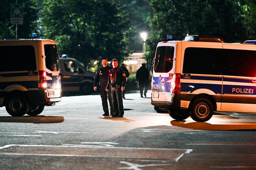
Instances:
[[[106,86],[100,86],[100,97],[102,101],[102,107],[105,114],[109,114],[108,101],[110,106],[110,114],[114,112],[111,91],[106,91]]]

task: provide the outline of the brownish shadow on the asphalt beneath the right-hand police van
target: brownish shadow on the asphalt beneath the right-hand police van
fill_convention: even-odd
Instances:
[[[256,130],[256,123],[225,122],[210,124],[206,122],[171,121],[171,125],[195,130]]]

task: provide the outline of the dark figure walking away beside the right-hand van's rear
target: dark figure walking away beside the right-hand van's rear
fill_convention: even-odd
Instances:
[[[136,81],[139,82],[139,92],[141,93],[141,97],[143,97],[144,88],[145,88],[144,96],[147,97],[148,78],[149,78],[149,71],[146,68],[146,64],[143,63],[142,66],[136,72]]]

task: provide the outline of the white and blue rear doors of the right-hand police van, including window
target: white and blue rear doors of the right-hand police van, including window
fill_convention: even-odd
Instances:
[[[152,101],[171,102],[171,88],[175,71],[176,43],[158,44],[152,74]]]

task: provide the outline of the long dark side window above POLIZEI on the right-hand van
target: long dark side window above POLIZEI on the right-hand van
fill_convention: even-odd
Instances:
[[[256,51],[187,48],[183,73],[256,77]]]

